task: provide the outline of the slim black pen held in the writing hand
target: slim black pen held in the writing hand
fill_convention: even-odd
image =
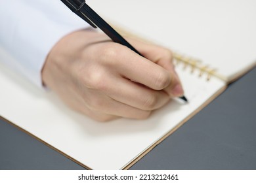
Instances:
[[[122,44],[124,46],[127,46],[140,56],[140,52],[138,52],[129,42],[127,42],[115,29],[113,29],[106,21],[104,21],[96,12],[89,7],[85,0],[61,0],[62,3],[64,3],[72,12],[77,14],[80,18],[85,20],[88,24],[90,24],[95,29],[98,27],[100,28],[112,41],[117,42],[119,44]],[[182,96],[179,97],[185,102],[188,102],[186,97]]]

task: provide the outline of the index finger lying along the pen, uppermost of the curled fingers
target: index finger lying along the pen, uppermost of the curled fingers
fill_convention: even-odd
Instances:
[[[160,65],[152,63],[146,58],[135,54],[125,46],[117,45],[115,48],[105,52],[105,59],[115,60],[110,62],[112,68],[115,68],[119,75],[144,84],[154,90],[162,90],[169,86],[171,76],[166,69]],[[106,56],[109,55],[109,56]]]

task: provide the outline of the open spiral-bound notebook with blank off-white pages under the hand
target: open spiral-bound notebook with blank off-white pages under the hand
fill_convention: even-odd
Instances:
[[[172,49],[190,101],[173,99],[147,120],[95,122],[1,64],[1,118],[88,169],[129,169],[215,99],[229,82],[255,67],[256,1],[87,3],[122,27],[122,33]],[[3,48],[0,57],[13,59]]]

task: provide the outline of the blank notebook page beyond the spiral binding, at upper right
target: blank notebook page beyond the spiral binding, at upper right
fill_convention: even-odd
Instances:
[[[88,0],[98,14],[232,80],[256,63],[255,0]]]

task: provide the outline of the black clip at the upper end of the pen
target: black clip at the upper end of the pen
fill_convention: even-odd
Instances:
[[[97,26],[84,14],[81,12],[81,8],[85,5],[85,0],[81,3],[81,5],[77,6],[74,3],[74,0],[61,0],[72,12],[77,14],[79,17],[81,17],[83,20],[85,20],[88,24],[90,24],[93,28],[97,28]],[[71,1],[71,2],[70,2]]]

